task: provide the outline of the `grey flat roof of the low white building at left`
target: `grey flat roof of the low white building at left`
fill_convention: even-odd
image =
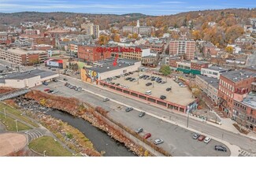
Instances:
[[[6,79],[29,79],[35,76],[40,76],[40,78],[45,78],[47,76],[54,76],[57,75],[55,72],[48,72],[44,70],[34,69],[27,72],[17,72],[13,74],[9,74],[7,76],[3,76],[0,78],[0,82],[5,81]]]

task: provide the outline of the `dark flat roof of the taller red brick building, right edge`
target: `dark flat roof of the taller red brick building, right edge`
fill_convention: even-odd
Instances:
[[[248,79],[250,76],[256,77],[255,72],[250,72],[247,70],[235,70],[230,72],[224,72],[221,76],[230,79],[232,82],[239,82],[242,79]]]

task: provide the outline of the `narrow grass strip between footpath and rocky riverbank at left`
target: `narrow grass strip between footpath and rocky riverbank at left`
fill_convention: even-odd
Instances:
[[[9,107],[9,105],[6,105],[6,104],[0,102],[0,111],[2,113],[4,113],[3,108],[6,108],[6,113],[13,114],[14,116],[17,116],[20,120],[24,120],[24,122],[27,122],[28,124],[31,124],[34,127],[39,127],[37,124],[32,122],[32,120],[28,119],[28,117],[22,116],[20,110],[13,109],[13,108]],[[0,114],[2,114],[2,113],[0,113]]]

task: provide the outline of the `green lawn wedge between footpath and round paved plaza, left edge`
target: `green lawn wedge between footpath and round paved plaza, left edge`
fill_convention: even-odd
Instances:
[[[11,118],[9,116],[6,116],[6,118],[5,118],[5,116],[3,114],[0,114],[0,120],[1,120],[2,124],[4,124],[6,126],[6,129],[8,131],[17,131],[16,122],[14,121],[13,118]],[[17,121],[17,127],[18,127],[19,131],[31,129],[31,127],[28,127],[27,125],[22,124],[19,121]]]

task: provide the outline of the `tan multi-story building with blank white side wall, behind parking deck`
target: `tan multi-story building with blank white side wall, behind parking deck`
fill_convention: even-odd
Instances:
[[[130,59],[130,60],[142,61],[142,57],[149,56],[149,55],[150,55],[150,48],[142,47],[140,48],[140,51],[134,50],[133,52],[123,52],[121,54],[121,57]]]

